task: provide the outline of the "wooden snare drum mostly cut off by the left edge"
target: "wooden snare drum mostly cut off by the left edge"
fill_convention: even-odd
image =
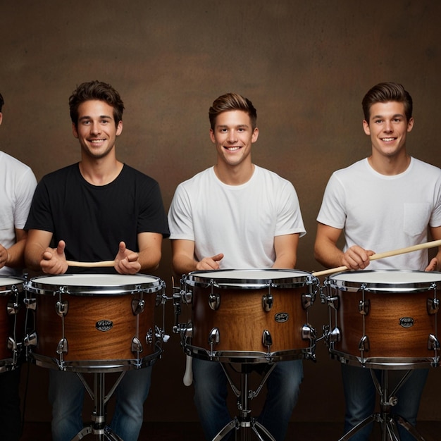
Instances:
[[[18,364],[24,334],[24,282],[23,278],[0,275],[0,373],[12,371]]]

